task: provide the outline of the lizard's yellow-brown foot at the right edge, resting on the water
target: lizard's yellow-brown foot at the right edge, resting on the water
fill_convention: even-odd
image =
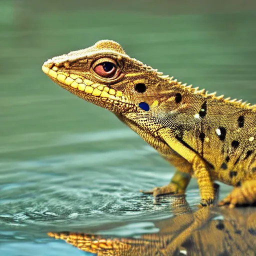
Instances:
[[[240,187],[235,187],[218,205],[228,204],[229,208],[242,204],[256,203],[256,180],[247,180]]]

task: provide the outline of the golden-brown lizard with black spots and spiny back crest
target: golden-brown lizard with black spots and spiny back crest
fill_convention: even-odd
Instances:
[[[163,75],[113,40],[48,59],[42,71],[113,112],[176,168],[169,184],[145,193],[182,194],[195,177],[202,206],[212,204],[215,180],[234,186],[219,205],[256,202],[256,105]]]

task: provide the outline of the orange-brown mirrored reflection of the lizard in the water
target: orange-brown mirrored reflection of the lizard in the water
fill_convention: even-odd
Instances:
[[[179,205],[172,209],[176,214],[154,221],[157,233],[139,238],[75,232],[48,235],[97,256],[255,255],[255,208],[202,207],[193,211],[184,196],[173,196],[172,200],[173,205]]]

